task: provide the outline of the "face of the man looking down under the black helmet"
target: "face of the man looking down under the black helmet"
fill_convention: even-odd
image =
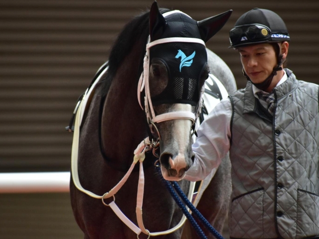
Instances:
[[[238,50],[243,68],[255,84],[263,82],[277,66],[275,49],[269,43],[240,47]]]

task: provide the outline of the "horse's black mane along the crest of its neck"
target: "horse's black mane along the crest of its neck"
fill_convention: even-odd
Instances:
[[[164,13],[170,11],[166,8],[160,8],[160,12]],[[121,33],[115,40],[113,47],[109,55],[109,69],[106,77],[104,78],[103,95],[106,96],[110,88],[112,79],[115,77],[117,69],[120,67],[123,59],[130,54],[134,47],[140,48],[143,52],[142,56],[145,55],[146,44],[148,36],[150,35],[149,29],[149,15],[150,10],[142,12],[140,15],[134,17],[130,22],[128,22]],[[144,39],[143,44],[138,44],[140,39]],[[143,57],[140,59],[139,72],[142,72],[143,68]]]

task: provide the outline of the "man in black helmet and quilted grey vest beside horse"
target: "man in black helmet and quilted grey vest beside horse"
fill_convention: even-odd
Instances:
[[[248,79],[201,124],[185,179],[205,178],[229,151],[231,238],[319,238],[318,85],[282,69],[289,34],[254,8],[230,31]]]

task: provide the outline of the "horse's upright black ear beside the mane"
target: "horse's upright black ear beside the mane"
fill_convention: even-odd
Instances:
[[[150,10],[150,36],[151,41],[160,38],[165,30],[166,20],[160,13],[157,1],[154,1]]]

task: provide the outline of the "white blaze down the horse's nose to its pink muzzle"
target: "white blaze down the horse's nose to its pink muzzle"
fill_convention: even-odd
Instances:
[[[188,111],[191,112],[191,106],[186,104],[176,104],[173,111]],[[178,144],[178,155],[174,160],[169,159],[169,164],[172,169],[177,172],[187,166],[185,160],[185,149],[189,146],[190,129],[192,121],[189,119],[174,119],[172,137]]]

